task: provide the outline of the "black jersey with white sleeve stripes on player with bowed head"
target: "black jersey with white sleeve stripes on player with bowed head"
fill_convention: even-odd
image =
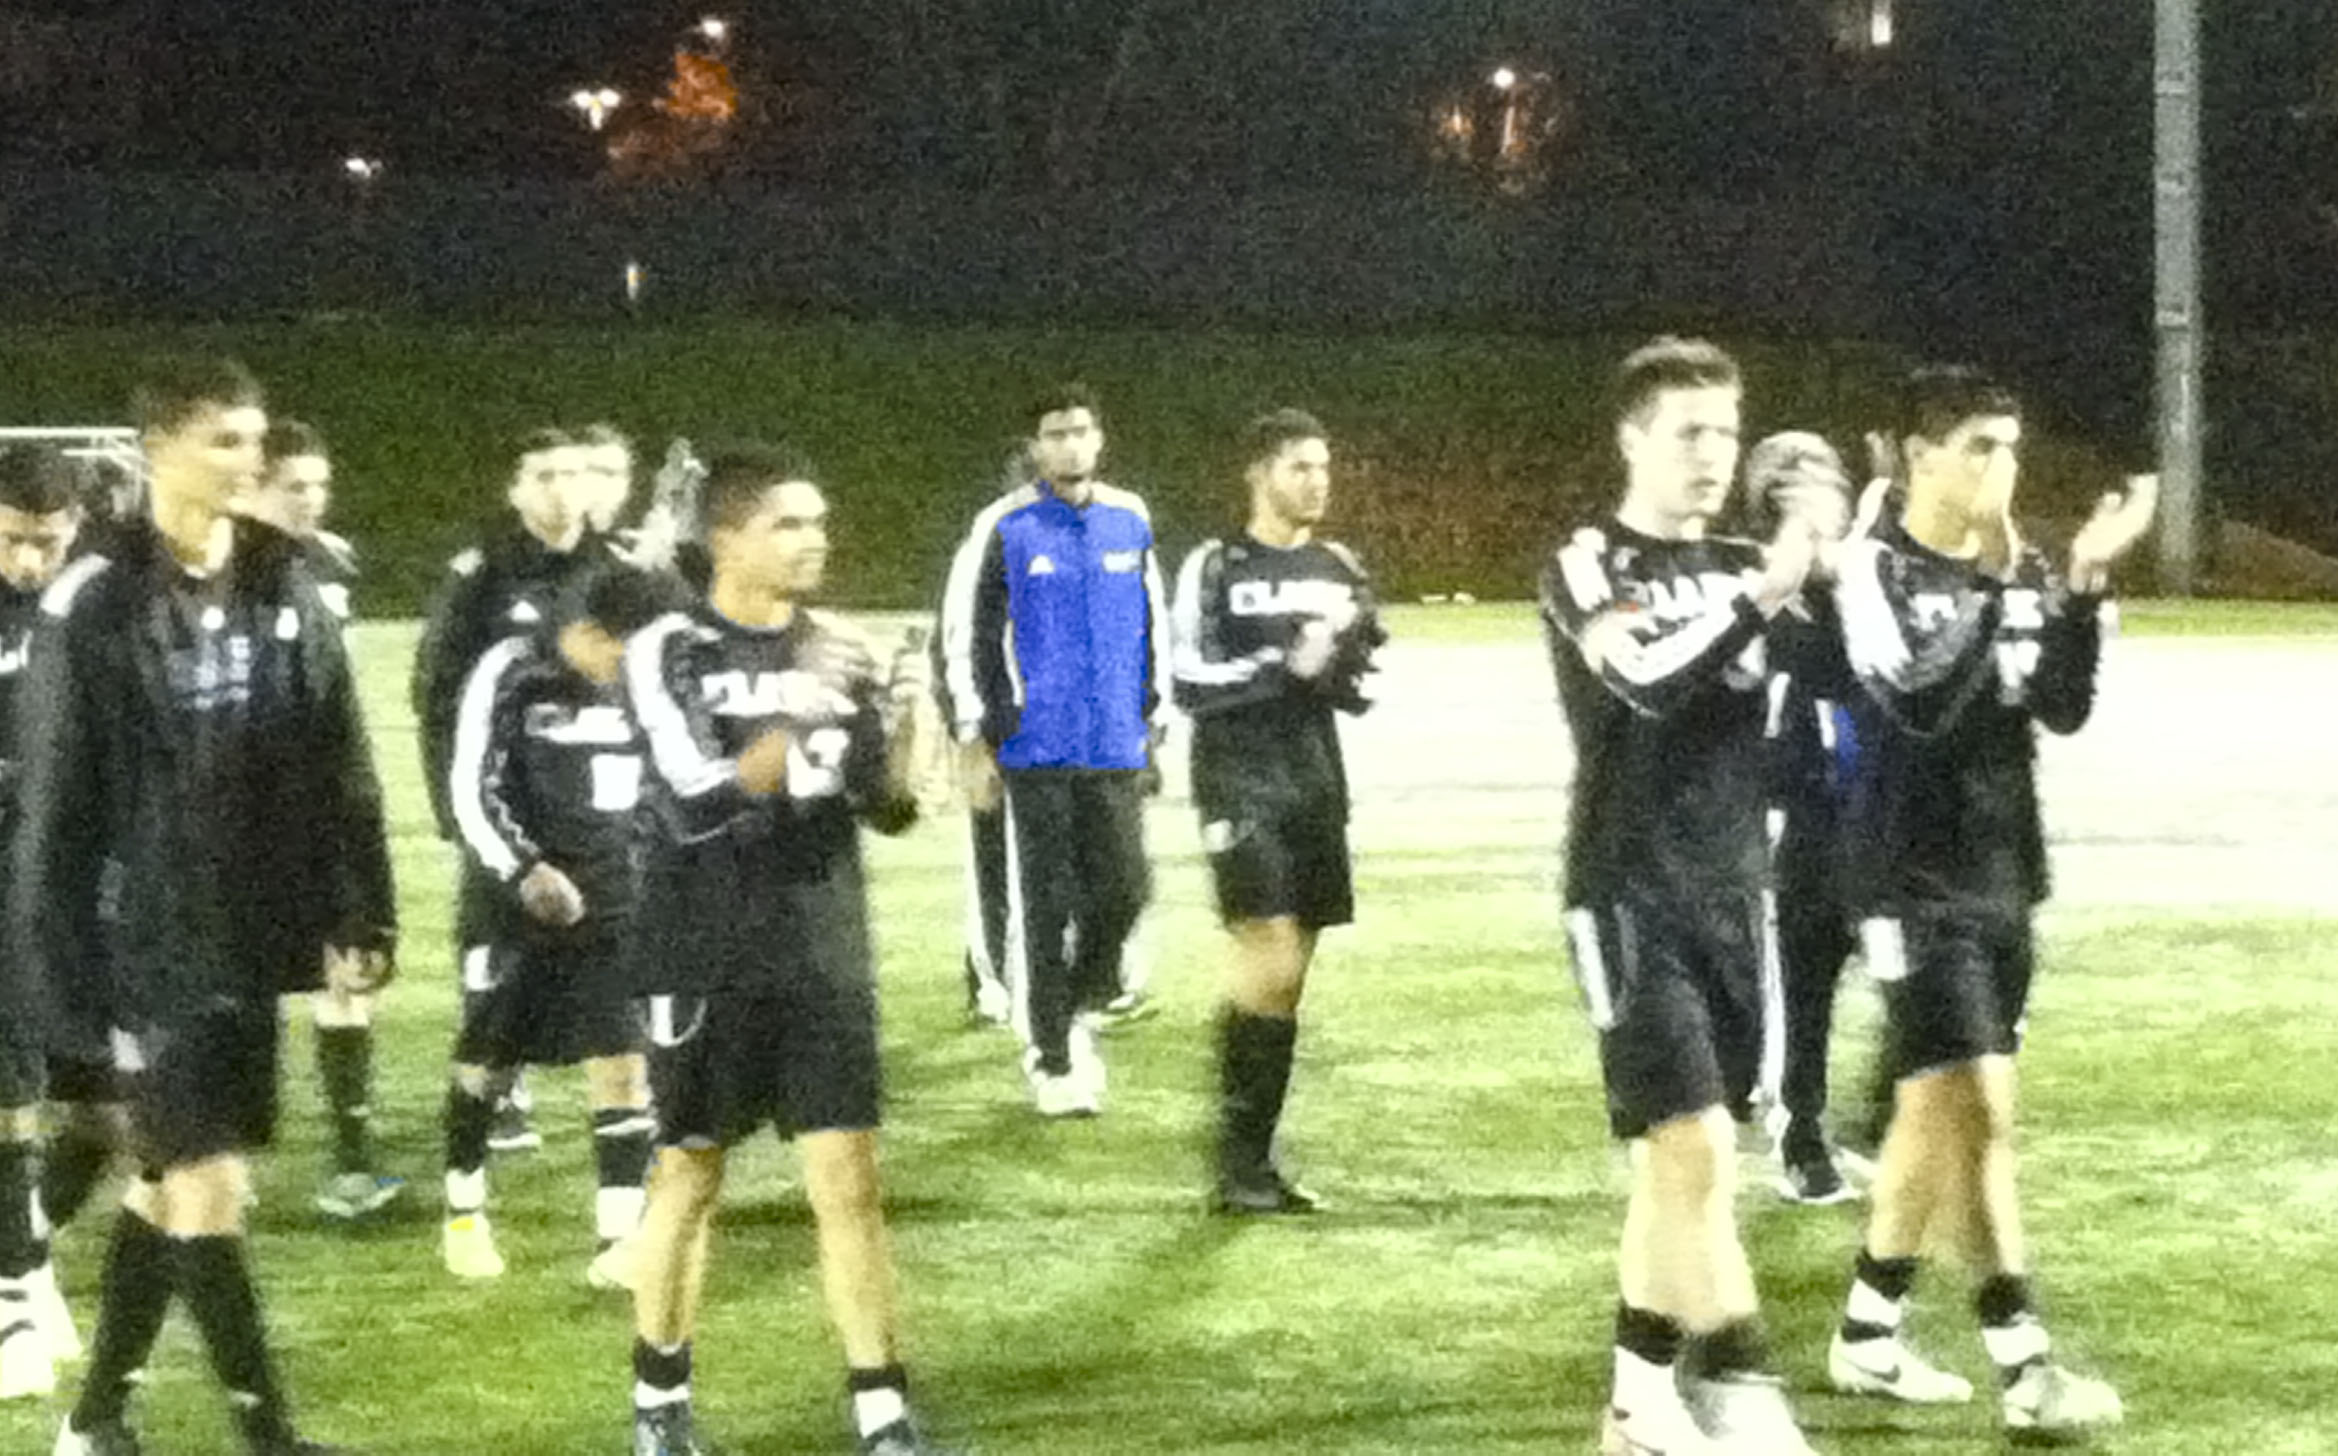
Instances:
[[[587,925],[634,914],[634,720],[617,685],[573,671],[542,633],[505,638],[472,668],[449,790],[463,851],[507,890],[507,928],[524,928],[519,881],[538,865],[575,881]]]

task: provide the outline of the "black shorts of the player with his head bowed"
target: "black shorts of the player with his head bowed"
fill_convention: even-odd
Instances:
[[[573,1066],[641,1052],[617,935],[528,937],[463,951],[461,1066]]]

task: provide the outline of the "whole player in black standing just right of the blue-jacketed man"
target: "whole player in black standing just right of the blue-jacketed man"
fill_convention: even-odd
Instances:
[[[1244,437],[1251,521],[1192,552],[1171,610],[1176,703],[1192,715],[1192,799],[1234,937],[1218,1021],[1218,1187],[1225,1213],[1312,1213],[1277,1166],[1300,993],[1316,935],[1354,918],[1347,767],[1335,713],[1363,713],[1386,640],[1347,547],[1316,540],[1330,444],[1298,409]]]

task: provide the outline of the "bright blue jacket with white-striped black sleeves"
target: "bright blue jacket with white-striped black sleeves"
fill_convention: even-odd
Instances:
[[[1153,519],[1129,491],[1085,507],[1047,481],[994,500],[942,594],[942,696],[961,741],[1015,769],[1143,769],[1169,612]]]

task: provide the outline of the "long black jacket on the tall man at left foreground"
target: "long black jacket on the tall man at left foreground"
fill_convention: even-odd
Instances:
[[[77,1026],[274,998],[327,944],[393,944],[381,785],[299,542],[236,521],[196,582],[133,521],[42,608],[9,935]]]

